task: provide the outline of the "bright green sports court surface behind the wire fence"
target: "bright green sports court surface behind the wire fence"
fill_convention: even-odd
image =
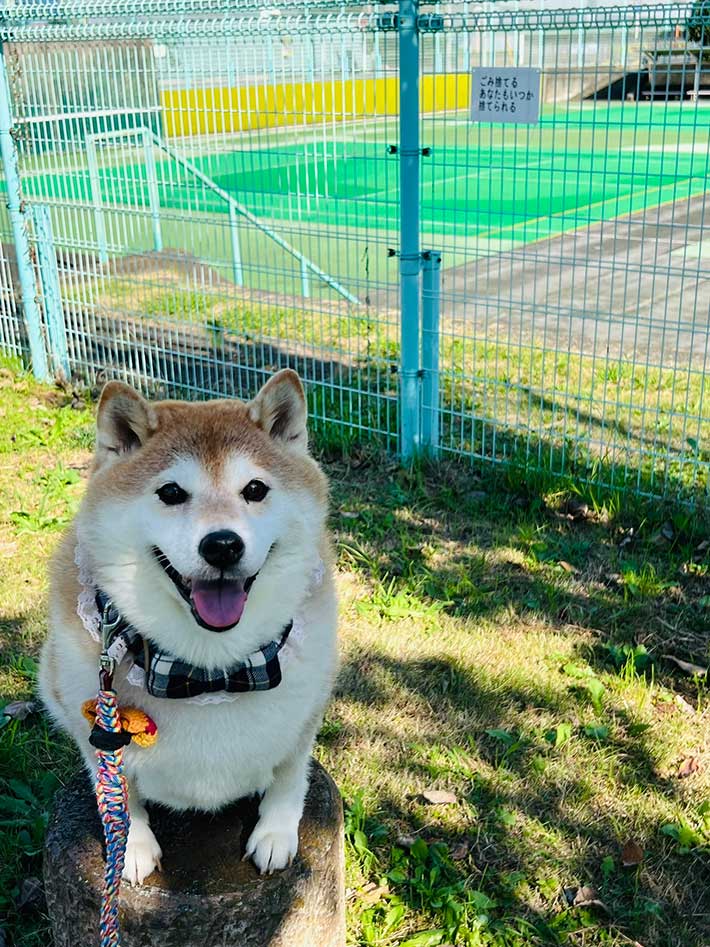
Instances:
[[[234,139],[232,150],[190,156],[216,185],[271,222],[392,230],[398,219],[398,161],[392,122],[293,130]],[[326,140],[323,140],[323,136]],[[320,140],[315,140],[316,135]],[[347,139],[347,140],[342,140]],[[374,139],[374,140],[373,140]],[[465,115],[425,118],[421,218],[442,238],[527,243],[703,194],[709,171],[710,108],[689,103],[565,105],[536,126],[472,124]],[[176,144],[192,148],[187,141]],[[222,143],[222,147],[224,147]],[[100,151],[106,209],[148,210],[138,147],[116,163]],[[174,159],[155,153],[161,212],[226,214],[227,203]],[[28,195],[91,205],[88,169],[35,172]]]

